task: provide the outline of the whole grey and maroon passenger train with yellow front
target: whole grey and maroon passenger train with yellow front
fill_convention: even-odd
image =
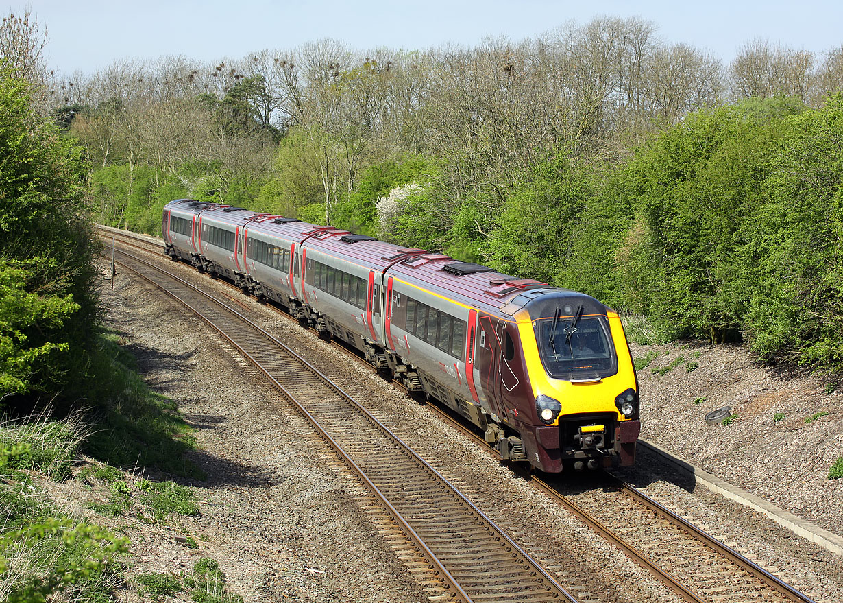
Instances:
[[[620,317],[584,293],[243,207],[176,199],[164,252],[282,305],[548,473],[631,466],[638,381]]]

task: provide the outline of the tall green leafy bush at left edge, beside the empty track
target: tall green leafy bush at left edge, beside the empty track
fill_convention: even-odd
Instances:
[[[0,396],[81,393],[94,323],[81,149],[0,71]]]

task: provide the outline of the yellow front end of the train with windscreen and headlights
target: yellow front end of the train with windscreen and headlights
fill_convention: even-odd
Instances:
[[[515,314],[535,407],[521,425],[543,471],[631,466],[638,385],[619,316],[581,293],[543,295]]]

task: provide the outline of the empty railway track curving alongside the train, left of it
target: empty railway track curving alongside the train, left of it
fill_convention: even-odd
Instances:
[[[455,599],[576,603],[432,466],[339,386],[250,321],[237,304],[216,299],[126,250],[116,249],[115,261],[196,312],[265,374],[379,499]]]

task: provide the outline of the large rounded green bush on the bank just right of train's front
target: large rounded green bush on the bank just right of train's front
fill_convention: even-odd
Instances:
[[[766,162],[787,115],[781,105],[688,116],[614,176],[636,213],[620,267],[624,301],[671,338],[722,342],[738,332],[746,300],[734,258],[764,198]]]

